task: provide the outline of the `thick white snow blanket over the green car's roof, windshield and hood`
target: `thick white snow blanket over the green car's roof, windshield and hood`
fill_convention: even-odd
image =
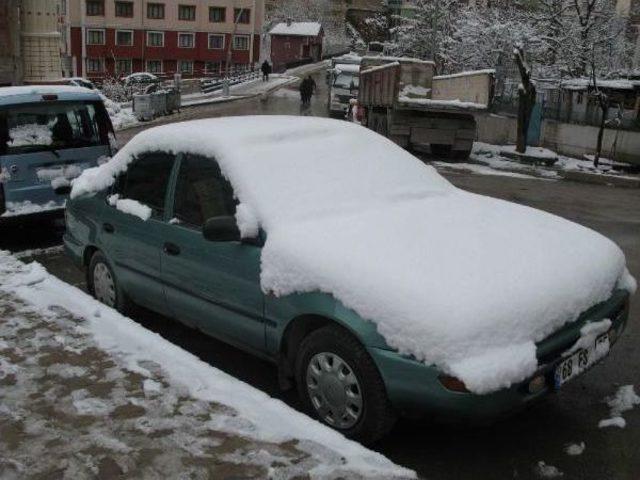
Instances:
[[[85,171],[72,196],[113,183],[148,150],[215,157],[242,208],[242,231],[267,232],[265,292],[322,291],[374,322],[403,354],[476,393],[522,381],[535,342],[634,289],[602,235],[528,207],[453,187],[389,140],[355,124],[236,117],[147,130]]]

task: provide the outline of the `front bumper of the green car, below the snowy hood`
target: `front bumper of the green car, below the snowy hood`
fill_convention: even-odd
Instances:
[[[577,341],[584,324],[610,318],[610,340],[613,346],[626,327],[628,299],[626,292],[616,292],[609,301],[586,312],[601,314],[609,311],[615,315],[583,315],[578,321],[541,342],[538,345],[540,367],[534,375],[508,389],[487,395],[447,390],[438,379],[441,372],[437,368],[401,356],[395,351],[380,348],[369,348],[368,351],[382,375],[389,400],[402,415],[432,416],[450,422],[491,422],[522,410],[555,391],[553,377],[555,367],[562,360],[561,353]],[[532,393],[529,383],[536,377],[544,378],[544,387]]]

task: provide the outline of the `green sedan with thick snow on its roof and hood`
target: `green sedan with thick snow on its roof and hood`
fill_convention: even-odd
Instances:
[[[138,134],[76,179],[64,241],[99,300],[272,360],[361,441],[398,414],[493,418],[556,390],[608,353],[635,289],[602,235],[309,117]]]

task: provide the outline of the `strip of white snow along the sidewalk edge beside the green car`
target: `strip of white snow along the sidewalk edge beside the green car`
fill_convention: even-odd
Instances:
[[[50,311],[64,308],[84,319],[78,328],[94,337],[98,346],[118,357],[128,370],[149,379],[146,367],[158,364],[174,386],[206,402],[230,407],[219,409],[207,420],[215,430],[267,442],[297,440],[297,448],[321,461],[311,478],[339,478],[350,474],[363,478],[416,478],[415,472],[393,464],[379,453],[347,440],[338,432],[299,413],[226,373],[202,362],[192,354],[164,340],[86,293],[51,276],[37,263],[28,265],[0,252],[0,289],[17,295],[38,309],[44,318]],[[0,359],[1,360],[1,359]],[[72,372],[69,372],[72,373]],[[145,381],[145,390],[158,385]],[[113,408],[86,390],[73,392],[73,405],[84,415],[106,415]],[[331,462],[322,461],[328,457]]]

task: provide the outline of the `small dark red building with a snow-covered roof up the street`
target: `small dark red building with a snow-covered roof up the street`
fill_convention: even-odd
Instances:
[[[324,30],[317,22],[286,22],[276,24],[269,32],[273,70],[322,59]]]

